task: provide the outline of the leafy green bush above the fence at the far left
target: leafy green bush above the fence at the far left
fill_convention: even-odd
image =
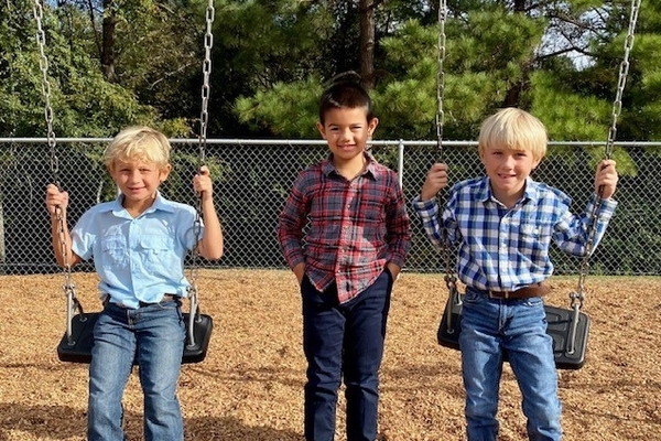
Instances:
[[[104,79],[84,40],[54,32],[61,15],[71,13],[66,8],[44,8],[43,28],[48,31],[44,53],[56,136],[112,136],[128,125],[156,120],[153,109],[141,105],[130,90]],[[0,97],[7,98],[0,99],[1,129],[17,137],[45,135],[40,53],[34,37],[28,36],[28,30],[36,30],[35,23],[25,18],[24,30],[17,32],[8,19],[0,19],[0,39],[11,47],[2,53],[0,64],[0,75],[11,78],[0,85]]]

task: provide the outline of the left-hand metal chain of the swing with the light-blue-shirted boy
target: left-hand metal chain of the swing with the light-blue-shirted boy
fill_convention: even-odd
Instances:
[[[34,0],[32,3],[32,12],[36,22],[36,44],[39,46],[39,67],[42,73],[42,95],[44,97],[44,118],[46,121],[46,137],[48,142],[51,158],[51,174],[54,184],[59,191],[59,160],[57,158],[55,131],[53,130],[53,107],[51,106],[51,83],[48,82],[48,58],[46,57],[46,34],[43,29],[44,11],[40,0]],[[72,279],[72,266],[68,261],[68,247],[66,245],[66,225],[64,224],[64,213],[61,206],[55,207],[55,216],[57,218],[57,235],[59,239],[59,249],[62,250],[64,284],[62,289],[66,295],[66,336],[69,345],[73,345],[73,325],[72,316],[77,309],[83,312],[80,302],[76,297],[76,287]]]

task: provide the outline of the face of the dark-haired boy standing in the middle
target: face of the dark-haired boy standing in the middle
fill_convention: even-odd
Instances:
[[[328,148],[335,161],[349,162],[359,159],[362,163],[362,152],[367,141],[372,136],[379,120],[367,120],[366,109],[339,108],[326,111],[325,121],[317,122],[317,129],[328,142]]]

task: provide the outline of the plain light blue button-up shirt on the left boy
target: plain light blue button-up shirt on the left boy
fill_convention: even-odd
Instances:
[[[72,250],[94,258],[101,299],[138,308],[161,301],[165,293],[186,297],[184,258],[193,249],[196,211],[167,201],[160,193],[153,205],[133,218],[113,202],[98,204],[80,216],[72,229]],[[201,219],[201,236],[204,226]]]

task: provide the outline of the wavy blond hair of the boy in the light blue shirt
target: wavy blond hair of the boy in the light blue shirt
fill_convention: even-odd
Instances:
[[[170,163],[170,141],[160,131],[147,126],[132,126],[112,139],[104,152],[104,163],[110,171],[116,161],[144,161],[163,169]]]

